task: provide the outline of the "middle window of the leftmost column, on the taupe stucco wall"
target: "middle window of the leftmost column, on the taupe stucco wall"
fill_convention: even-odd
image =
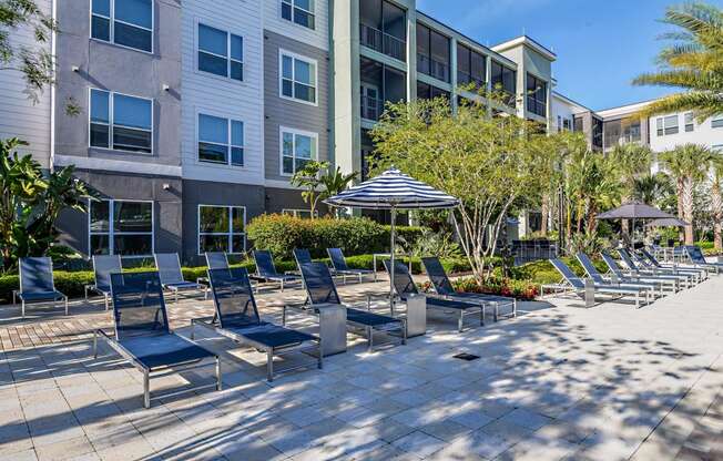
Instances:
[[[90,146],[153,152],[153,100],[90,90]]]

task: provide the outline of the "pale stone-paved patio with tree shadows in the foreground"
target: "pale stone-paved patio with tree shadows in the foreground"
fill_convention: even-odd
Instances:
[[[350,284],[340,295],[385,289]],[[369,354],[356,340],[323,370],[271,385],[262,355],[203,336],[223,354],[225,389],[159,398],[213,379],[170,375],[152,381],[150,410],[135,369],[108,347],[92,357],[90,331],[111,326],[100,303],[73,305],[68,318],[31,310],[26,321],[6,306],[0,459],[721,459],[722,293],[714,276],[638,310],[549,298],[462,334],[435,317],[407,346]],[[262,314],[278,321],[279,303],[301,296],[262,295]],[[169,309],[184,335],[212,311],[197,299]],[[462,351],[480,359],[452,358]]]

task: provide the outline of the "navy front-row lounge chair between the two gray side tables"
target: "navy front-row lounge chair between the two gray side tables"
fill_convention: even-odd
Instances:
[[[318,314],[318,305],[334,304],[345,306],[336,291],[334,279],[329,268],[324,263],[306,263],[299,266],[302,278],[308,295],[305,306],[284,306],[284,324],[286,324],[286,310],[296,308],[302,311]],[[403,345],[407,344],[407,325],[403,318],[385,316],[371,313],[368,309],[356,309],[346,307],[346,322],[350,331],[366,336],[367,349],[374,348],[374,332],[383,331],[387,335],[398,336]]]

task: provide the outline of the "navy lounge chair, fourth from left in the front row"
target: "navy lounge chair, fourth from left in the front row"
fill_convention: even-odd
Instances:
[[[391,262],[388,259],[384,260],[384,267],[387,269],[387,273],[390,272]],[[394,290],[399,297],[400,300],[407,301],[410,295],[419,295],[417,285],[415,285],[407,265],[398,260],[394,264]],[[483,300],[456,300],[451,298],[440,297],[439,295],[425,295],[427,298],[427,308],[441,309],[445,311],[452,311],[458,314],[457,318],[457,331],[462,332],[465,326],[465,316],[472,314],[479,314],[479,325],[485,325],[485,314],[486,308],[490,306]],[[491,307],[491,306],[490,306]]]

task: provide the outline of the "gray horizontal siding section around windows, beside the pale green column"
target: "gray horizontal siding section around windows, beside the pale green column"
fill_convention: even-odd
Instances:
[[[279,96],[279,49],[316,60],[318,105],[304,104]],[[264,152],[267,180],[287,181],[279,173],[279,127],[318,133],[318,156],[329,158],[328,148],[328,53],[318,48],[264,30]]]

